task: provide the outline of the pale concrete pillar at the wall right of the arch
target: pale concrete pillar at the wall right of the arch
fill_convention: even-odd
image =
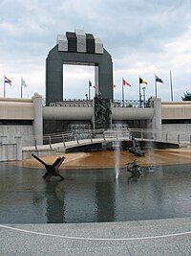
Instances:
[[[152,122],[153,133],[155,139],[161,139],[161,100],[159,98],[153,98],[152,100],[154,108],[154,116]]]

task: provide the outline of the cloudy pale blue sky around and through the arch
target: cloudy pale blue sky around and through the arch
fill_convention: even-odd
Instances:
[[[0,0],[0,97],[19,98],[21,77],[27,83],[23,96],[34,92],[45,97],[45,60],[56,35],[83,29],[99,37],[114,64],[115,99],[138,99],[138,77],[148,84],[146,97],[181,101],[191,92],[191,0]],[[64,66],[64,98],[83,99],[94,68]],[[94,88],[91,88],[94,96]]]

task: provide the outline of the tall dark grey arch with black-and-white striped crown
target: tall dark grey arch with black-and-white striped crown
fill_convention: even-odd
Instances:
[[[46,105],[63,101],[63,64],[95,66],[96,94],[113,101],[113,61],[101,40],[75,30],[57,35],[46,59]]]

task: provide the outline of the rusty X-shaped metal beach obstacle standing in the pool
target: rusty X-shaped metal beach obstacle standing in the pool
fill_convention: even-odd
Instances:
[[[38,156],[32,153],[33,158],[35,158],[38,162],[40,162],[44,167],[46,168],[47,172],[42,177],[49,181],[52,176],[59,176],[61,180],[65,179],[62,175],[60,175],[58,168],[65,160],[64,156],[59,156],[53,163],[53,165],[46,164],[42,159],[40,159]]]

